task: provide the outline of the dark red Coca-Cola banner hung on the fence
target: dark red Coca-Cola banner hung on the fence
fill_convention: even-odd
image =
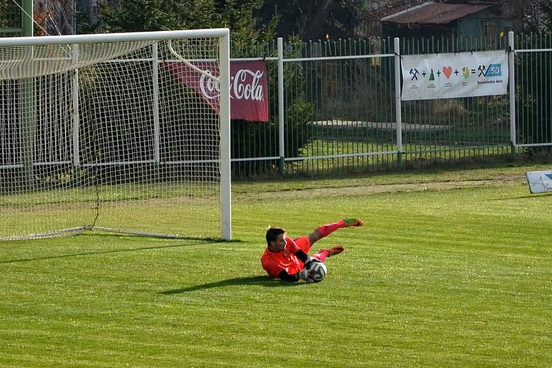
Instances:
[[[217,114],[219,107],[219,83],[189,68],[184,63],[163,65],[175,74],[179,81],[193,88]],[[207,74],[219,76],[217,63],[193,63]],[[268,121],[268,81],[265,61],[230,61],[230,119]]]

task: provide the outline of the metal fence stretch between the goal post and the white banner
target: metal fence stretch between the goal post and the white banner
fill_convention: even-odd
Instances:
[[[278,49],[258,50],[268,68],[270,123],[233,121],[234,177],[380,168],[396,159],[393,41],[293,41]],[[238,60],[252,55],[232,52]]]

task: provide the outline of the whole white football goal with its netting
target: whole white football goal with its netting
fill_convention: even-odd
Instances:
[[[226,29],[0,39],[0,240],[230,239],[228,43]]]

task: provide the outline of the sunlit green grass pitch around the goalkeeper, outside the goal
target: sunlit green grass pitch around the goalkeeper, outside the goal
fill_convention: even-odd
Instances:
[[[235,183],[231,243],[0,243],[0,366],[549,365],[552,202],[523,183],[538,168]],[[475,184],[426,189],[451,181]],[[264,276],[267,225],[347,215],[365,226],[315,245],[347,247],[322,283]]]

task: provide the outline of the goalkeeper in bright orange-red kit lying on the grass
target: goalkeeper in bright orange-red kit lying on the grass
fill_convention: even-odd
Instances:
[[[261,264],[271,278],[279,278],[286,281],[304,280],[312,283],[313,279],[308,274],[306,265],[313,262],[324,262],[326,258],[335,256],[344,251],[342,245],[336,245],[328,249],[321,249],[317,254],[308,256],[308,250],[320,239],[335,232],[341,227],[362,226],[360,218],[344,218],[337,223],[322,225],[314,232],[295,240],[286,236],[284,229],[270,227],[266,231],[266,249],[261,257]]]

